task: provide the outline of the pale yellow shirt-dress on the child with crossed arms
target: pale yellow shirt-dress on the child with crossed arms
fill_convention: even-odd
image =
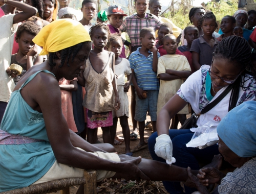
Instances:
[[[157,78],[159,74],[164,74],[166,69],[176,71],[191,71],[187,58],[182,55],[163,55],[158,59]],[[162,107],[172,98],[183,84],[182,79],[160,80],[160,88],[157,101],[157,114]],[[178,114],[188,114],[187,105]]]

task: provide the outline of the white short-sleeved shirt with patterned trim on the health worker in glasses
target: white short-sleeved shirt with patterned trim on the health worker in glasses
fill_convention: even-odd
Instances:
[[[205,89],[206,73],[208,69],[209,65],[202,65],[198,71],[194,72],[194,74],[188,77],[185,83],[181,85],[180,90],[177,92],[177,94],[181,96],[183,100],[191,104],[191,107],[196,114],[200,113],[208,103],[214,101],[227,88],[227,86],[222,88],[210,101],[208,101]],[[249,87],[247,87],[245,91],[242,87],[240,87],[237,106],[246,101],[255,101],[256,81],[252,77],[249,79],[246,78],[246,80],[247,81],[244,83],[244,87]],[[230,90],[229,93],[214,108],[205,114],[200,115],[197,120],[198,127],[203,126],[209,121],[214,123],[216,126],[219,125],[222,118],[228,113],[231,91],[232,90]],[[195,132],[193,129],[190,130]]]

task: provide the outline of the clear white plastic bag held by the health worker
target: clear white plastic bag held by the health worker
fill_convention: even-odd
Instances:
[[[217,125],[209,121],[196,128],[193,137],[186,143],[186,147],[204,149],[218,143],[218,141]]]

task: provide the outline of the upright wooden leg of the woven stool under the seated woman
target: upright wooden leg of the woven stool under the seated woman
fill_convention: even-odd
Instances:
[[[84,194],[96,194],[96,171],[84,170],[84,178],[86,178],[86,184],[84,184]]]

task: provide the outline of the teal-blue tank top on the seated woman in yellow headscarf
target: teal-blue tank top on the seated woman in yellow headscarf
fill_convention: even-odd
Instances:
[[[52,74],[48,70],[41,71]],[[0,145],[0,192],[31,185],[44,176],[56,160],[42,113],[33,110],[20,94],[20,90],[41,71],[35,72],[12,92],[0,129],[44,141]]]

